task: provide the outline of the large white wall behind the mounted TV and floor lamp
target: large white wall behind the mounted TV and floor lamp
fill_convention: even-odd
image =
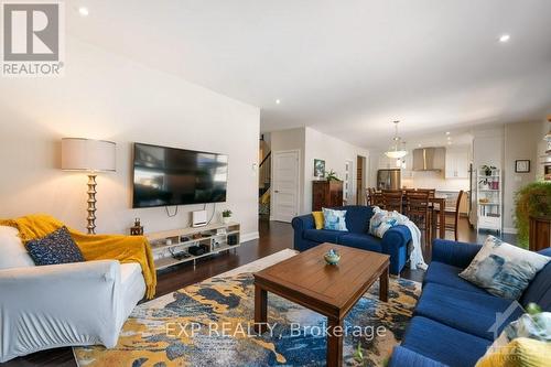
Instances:
[[[84,229],[87,177],[60,170],[60,139],[86,137],[117,142],[117,173],[97,180],[98,231],[127,233],[134,217],[147,231],[183,227],[203,207],[173,218],[131,208],[138,141],[228,154],[228,202],[217,212],[231,208],[244,233],[258,235],[258,108],[73,37],[64,77],[2,78],[0,94],[0,217],[43,212]]]

